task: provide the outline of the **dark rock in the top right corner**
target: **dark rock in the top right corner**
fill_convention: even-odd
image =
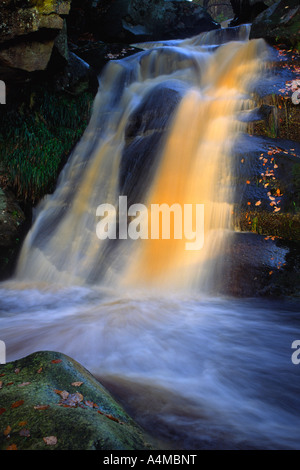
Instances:
[[[254,20],[250,39],[264,38],[272,44],[300,48],[300,5],[298,0],[281,0]]]

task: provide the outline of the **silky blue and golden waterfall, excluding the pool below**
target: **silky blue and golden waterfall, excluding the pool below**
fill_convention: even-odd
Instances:
[[[232,145],[246,130],[238,113],[251,105],[249,86],[267,56],[263,40],[248,40],[247,26],[238,31],[237,40],[224,44],[226,34],[212,32],[144,45],[106,66],[84,136],[38,209],[17,278],[202,290],[218,284],[232,231]],[[149,211],[148,236],[138,235],[137,220],[135,239],[119,236],[120,196],[147,210],[189,207],[190,234],[202,239],[201,247],[186,249],[191,235],[174,234],[172,211],[167,239],[149,235]],[[116,207],[117,236],[100,240],[97,208],[104,204]]]

